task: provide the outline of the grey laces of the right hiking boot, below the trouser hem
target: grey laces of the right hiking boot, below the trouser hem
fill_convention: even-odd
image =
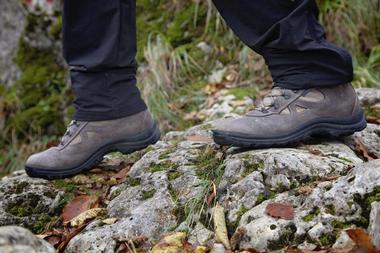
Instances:
[[[271,108],[277,110],[283,104],[284,100],[291,98],[292,93],[297,93],[297,91],[274,87],[269,94],[263,98],[255,110],[262,113],[268,113]]]

